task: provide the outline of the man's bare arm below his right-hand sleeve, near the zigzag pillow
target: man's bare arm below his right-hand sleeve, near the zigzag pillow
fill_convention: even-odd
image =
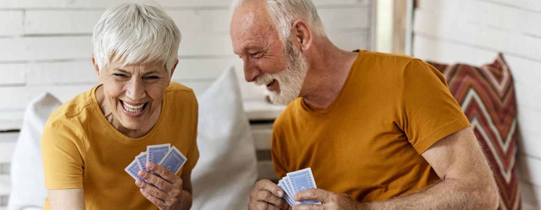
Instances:
[[[496,209],[492,171],[468,127],[432,145],[423,157],[441,178],[420,191],[366,204],[367,209]]]

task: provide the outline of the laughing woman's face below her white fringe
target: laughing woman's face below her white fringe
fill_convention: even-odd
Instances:
[[[126,66],[111,62],[98,77],[103,84],[103,104],[113,114],[113,120],[130,130],[155,123],[149,119],[153,114],[159,116],[156,112],[161,111],[163,95],[170,82],[169,73],[161,62]]]

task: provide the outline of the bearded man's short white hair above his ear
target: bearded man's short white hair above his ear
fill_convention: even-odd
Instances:
[[[234,0],[233,10],[248,1],[252,0]],[[315,35],[325,36],[325,29],[312,0],[263,0],[263,2],[266,3],[271,22],[278,30],[283,43],[291,39],[291,27],[298,19],[304,19]]]

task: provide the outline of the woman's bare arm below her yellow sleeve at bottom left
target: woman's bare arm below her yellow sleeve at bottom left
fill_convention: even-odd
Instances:
[[[84,210],[83,188],[49,189],[49,204],[53,210]]]

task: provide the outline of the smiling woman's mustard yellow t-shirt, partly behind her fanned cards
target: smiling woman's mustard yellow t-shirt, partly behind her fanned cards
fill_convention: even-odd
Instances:
[[[156,125],[146,136],[134,139],[105,119],[96,100],[98,86],[60,106],[45,124],[41,140],[45,187],[83,188],[87,209],[157,209],[124,168],[147,145],[170,143],[187,157],[178,174],[192,171],[199,158],[195,95],[171,82]],[[50,209],[49,199],[43,208]]]

